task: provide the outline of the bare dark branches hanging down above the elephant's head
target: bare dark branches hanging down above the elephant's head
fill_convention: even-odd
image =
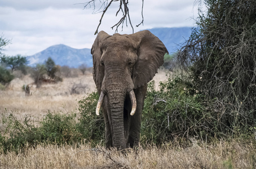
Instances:
[[[123,28],[123,24],[126,24],[127,25],[127,21],[129,21],[129,24],[131,26],[131,29],[133,29],[133,33],[134,33],[134,28],[133,28],[133,24],[131,23],[131,18],[130,18],[130,14],[129,14],[129,0],[111,0],[110,2],[108,0],[91,0],[89,2],[86,2],[85,3],[85,8],[86,7],[92,7],[94,8],[94,12],[95,13],[99,13],[99,12],[102,12],[102,15],[101,15],[101,18],[100,18],[100,21],[99,21],[99,25],[95,31],[94,34],[97,34],[98,33],[98,30],[99,30],[99,26],[101,25],[101,21],[105,15],[105,12],[107,12],[107,10],[109,9],[109,7],[111,5],[113,5],[114,2],[119,2],[119,7],[117,9],[117,12],[116,12],[116,16],[121,12],[122,13],[122,17],[120,18],[120,20],[115,24],[113,25],[111,28],[115,28],[116,27],[116,32],[117,32],[117,29],[119,28],[119,26],[122,26]],[[96,9],[96,6],[99,5],[99,8]],[[138,25],[136,25],[136,27],[138,27],[139,25],[143,24],[143,5],[144,5],[144,0],[142,0],[142,21],[141,23],[139,23]]]

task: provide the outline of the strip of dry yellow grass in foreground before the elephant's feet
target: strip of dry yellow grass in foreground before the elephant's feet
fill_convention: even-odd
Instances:
[[[84,144],[38,145],[24,153],[0,154],[0,168],[255,168],[255,158],[255,145],[239,141],[148,146],[127,153]]]

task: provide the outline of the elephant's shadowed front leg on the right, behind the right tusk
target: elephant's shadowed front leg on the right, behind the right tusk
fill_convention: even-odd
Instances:
[[[138,145],[140,141],[140,126],[142,123],[142,109],[144,105],[145,95],[147,94],[147,84],[134,90],[136,95],[136,112],[130,115],[130,130],[128,144],[131,148]]]

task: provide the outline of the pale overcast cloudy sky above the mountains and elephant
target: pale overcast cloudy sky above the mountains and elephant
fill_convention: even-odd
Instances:
[[[92,8],[83,9],[89,0],[0,0],[0,36],[11,40],[3,51],[6,55],[29,56],[52,45],[64,44],[73,48],[91,48],[99,24],[100,14],[92,14]],[[131,21],[135,32],[161,27],[194,26],[197,6],[194,0],[145,0],[144,25],[142,0],[129,1]],[[115,2],[119,5],[119,2]],[[113,34],[111,27],[120,19],[113,5],[104,16],[99,30]],[[120,34],[130,34],[130,26]]]

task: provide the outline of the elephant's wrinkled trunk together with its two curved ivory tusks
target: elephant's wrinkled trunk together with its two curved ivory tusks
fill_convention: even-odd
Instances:
[[[125,79],[125,72],[123,69],[118,69],[117,66],[112,65],[106,69],[102,87],[100,99],[96,108],[96,113],[98,114],[100,105],[104,100],[104,94],[106,95],[105,101],[107,101],[107,115],[109,120],[109,127],[111,129],[112,144],[118,150],[127,148],[127,139],[125,135],[124,126],[124,102],[126,94],[129,93],[131,98],[131,115],[136,111],[136,98],[132,88],[134,87],[133,82],[127,81]],[[107,99],[107,100],[106,100]]]

